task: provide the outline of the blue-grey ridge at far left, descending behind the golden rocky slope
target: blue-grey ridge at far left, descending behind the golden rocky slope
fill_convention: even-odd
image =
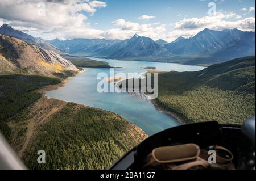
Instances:
[[[62,50],[60,50],[59,48],[56,48],[53,45],[47,43],[45,40],[43,40],[41,38],[35,38],[35,37],[28,35],[27,33],[24,33],[22,31],[14,30],[8,24],[3,24],[0,27],[0,34],[16,37],[17,39],[27,41],[30,44],[37,45],[38,47],[41,47],[46,50],[52,50],[53,52],[58,53],[58,54],[67,54],[67,53],[63,52]]]

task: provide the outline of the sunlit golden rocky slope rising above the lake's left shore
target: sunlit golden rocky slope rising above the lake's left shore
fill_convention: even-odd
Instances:
[[[44,50],[26,41],[0,34],[1,74],[23,73],[61,77],[76,73],[69,60],[52,50]]]

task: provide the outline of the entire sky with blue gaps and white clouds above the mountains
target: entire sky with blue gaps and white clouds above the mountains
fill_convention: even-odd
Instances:
[[[216,6],[214,15],[208,14],[210,2]],[[204,28],[255,31],[255,1],[1,0],[0,25],[3,23],[45,39],[127,39],[138,33],[172,41]]]

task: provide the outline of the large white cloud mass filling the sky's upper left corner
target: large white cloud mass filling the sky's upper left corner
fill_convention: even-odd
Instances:
[[[33,35],[47,38],[100,37],[101,30],[90,28],[85,14],[93,15],[104,7],[105,2],[90,0],[1,0],[0,17],[14,28],[26,27]]]

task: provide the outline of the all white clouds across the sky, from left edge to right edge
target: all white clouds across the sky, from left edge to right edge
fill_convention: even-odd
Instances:
[[[242,16],[235,12],[224,11],[218,11],[215,16],[184,18],[176,23],[171,23],[171,28],[166,24],[135,23],[122,18],[109,22],[113,27],[108,30],[92,28],[88,19],[96,13],[97,9],[106,6],[105,2],[93,0],[1,0],[0,26],[7,23],[17,30],[44,39],[54,39],[55,37],[61,39],[128,39],[137,33],[154,40],[161,38],[172,41],[179,36],[194,36],[204,28],[213,30],[238,28],[243,31],[255,31],[254,17],[242,19]],[[248,13],[255,11],[255,8],[245,8],[242,11]],[[142,20],[152,18],[154,16],[150,15],[139,17]],[[172,30],[167,31],[166,28]]]

